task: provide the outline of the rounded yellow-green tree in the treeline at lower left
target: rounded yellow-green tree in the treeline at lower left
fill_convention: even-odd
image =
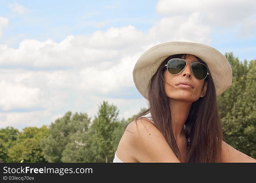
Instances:
[[[24,159],[24,162],[46,162],[40,141],[48,134],[46,126],[24,128],[17,135],[15,144],[8,149],[10,162],[20,162],[21,159]]]

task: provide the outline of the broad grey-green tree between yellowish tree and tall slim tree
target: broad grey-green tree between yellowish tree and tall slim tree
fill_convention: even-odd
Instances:
[[[54,123],[51,123],[48,137],[41,141],[41,147],[45,152],[45,159],[48,162],[69,161],[67,156],[72,154],[68,154],[70,153],[70,149],[68,148],[73,147],[71,144],[76,143],[75,137],[86,134],[89,123],[90,118],[87,113],[75,113],[72,116],[72,112],[70,111],[62,118],[56,119]],[[80,139],[77,139],[77,141],[79,142]],[[64,150],[65,157],[63,157]]]

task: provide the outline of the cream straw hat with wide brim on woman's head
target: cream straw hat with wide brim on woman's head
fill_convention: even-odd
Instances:
[[[158,44],[141,55],[133,69],[133,80],[141,95],[147,99],[149,83],[160,64],[170,55],[190,54],[202,59],[213,79],[216,96],[232,84],[232,69],[227,58],[218,50],[191,40],[178,40]]]

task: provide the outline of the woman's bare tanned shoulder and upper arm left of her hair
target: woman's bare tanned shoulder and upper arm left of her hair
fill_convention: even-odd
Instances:
[[[179,162],[163,134],[148,119],[129,123],[121,141],[138,162]]]

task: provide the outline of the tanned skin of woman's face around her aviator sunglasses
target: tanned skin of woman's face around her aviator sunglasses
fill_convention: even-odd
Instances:
[[[199,62],[195,56],[187,55],[186,58],[182,57],[182,59],[191,60],[194,62]],[[207,85],[203,88],[204,80],[198,80],[195,78],[190,68],[190,61],[187,61],[186,68],[177,75],[172,75],[168,73],[168,71],[164,71],[163,78],[164,80],[172,85],[168,85],[166,82],[164,83],[165,93],[168,98],[172,98],[175,100],[182,100],[187,102],[195,102],[200,97],[205,96],[205,92],[207,90]],[[184,87],[182,85],[177,85],[177,83],[181,81],[190,82],[193,85],[193,88]]]

